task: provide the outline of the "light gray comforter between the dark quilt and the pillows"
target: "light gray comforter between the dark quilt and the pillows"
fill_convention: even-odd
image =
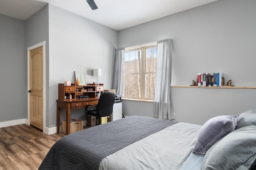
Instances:
[[[193,151],[200,128],[201,125],[175,123],[106,156],[99,170],[179,170]],[[190,158],[183,170],[195,170],[202,160]]]

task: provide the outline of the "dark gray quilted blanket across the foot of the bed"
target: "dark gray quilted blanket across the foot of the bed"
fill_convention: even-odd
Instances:
[[[132,116],[67,135],[54,144],[39,170],[98,169],[109,154],[175,123]]]

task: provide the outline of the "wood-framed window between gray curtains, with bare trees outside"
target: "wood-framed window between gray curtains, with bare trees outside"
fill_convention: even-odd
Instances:
[[[156,44],[125,50],[123,97],[153,100],[156,80]]]

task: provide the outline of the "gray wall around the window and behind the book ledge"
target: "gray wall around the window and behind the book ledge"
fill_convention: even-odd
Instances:
[[[118,31],[118,47],[173,40],[172,85],[189,86],[197,73],[223,72],[235,86],[256,86],[256,1],[218,0]],[[256,89],[171,88],[177,121],[256,108]],[[153,116],[152,103],[123,100],[124,115]]]

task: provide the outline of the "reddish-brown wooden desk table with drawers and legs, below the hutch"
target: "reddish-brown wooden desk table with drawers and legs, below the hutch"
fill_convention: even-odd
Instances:
[[[72,100],[56,100],[57,101],[57,133],[60,132],[60,108],[66,109],[66,132],[70,133],[70,110],[80,109],[86,105],[97,105],[99,98],[72,99]]]

